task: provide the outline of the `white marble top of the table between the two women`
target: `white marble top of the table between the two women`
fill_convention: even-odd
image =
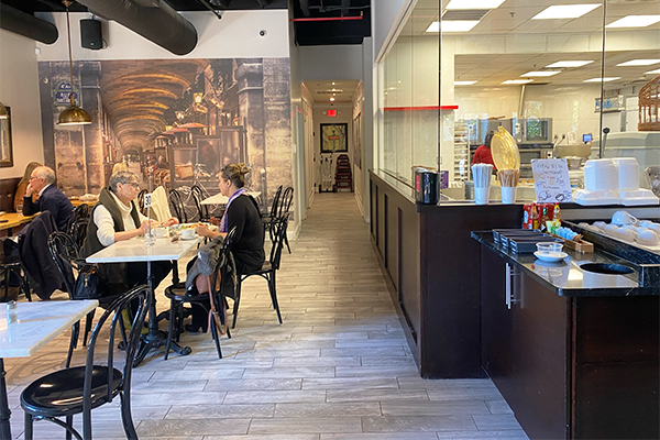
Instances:
[[[118,241],[99,252],[89,255],[88,263],[132,263],[150,261],[179,260],[199,243],[200,239],[178,240],[174,243],[165,237],[156,239],[156,243],[147,246],[144,238],[138,237],[131,240]]]

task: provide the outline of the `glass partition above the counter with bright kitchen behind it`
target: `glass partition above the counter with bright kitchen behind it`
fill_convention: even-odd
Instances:
[[[644,173],[660,164],[660,127],[639,94],[659,68],[660,0],[419,0],[383,59],[380,164],[404,182],[439,167],[443,194],[471,199],[470,166],[493,161],[488,133],[506,130],[519,199],[535,198],[535,158],[569,157],[574,188],[601,154],[635,156]]]

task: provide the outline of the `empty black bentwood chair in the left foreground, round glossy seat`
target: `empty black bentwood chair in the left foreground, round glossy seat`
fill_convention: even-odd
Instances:
[[[85,365],[47,374],[21,393],[21,407],[25,411],[25,440],[33,438],[34,420],[50,420],[61,426],[66,429],[67,438],[73,435],[78,440],[91,440],[91,410],[111,403],[118,395],[121,397],[121,417],[127,438],[138,439],[131,417],[131,374],[140,342],[140,330],[146,316],[147,295],[148,286],[138,286],[108,307],[89,338]],[[114,338],[118,330],[122,331],[122,310],[130,310],[131,302],[138,304],[138,311],[133,318],[124,355],[116,361]],[[103,365],[95,365],[97,341],[100,338],[101,342],[106,343],[106,332],[109,332],[108,358]],[[114,367],[116,362],[118,366],[123,364],[121,370]],[[74,415],[77,414],[82,415],[82,436],[73,427]],[[58,417],[65,417],[66,421]]]

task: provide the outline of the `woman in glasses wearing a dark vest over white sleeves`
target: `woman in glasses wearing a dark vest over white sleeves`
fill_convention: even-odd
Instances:
[[[133,200],[140,193],[138,176],[131,172],[119,172],[110,176],[108,188],[101,189],[99,202],[91,211],[92,221],[87,229],[87,238],[81,254],[87,257],[110,244],[143,235],[148,229],[147,219],[139,212]],[[177,223],[168,219],[164,226]],[[99,265],[108,279],[111,293],[146,284],[146,263],[110,263]],[[167,276],[172,263],[158,261],[152,263],[154,288]],[[114,288],[113,288],[114,285]]]

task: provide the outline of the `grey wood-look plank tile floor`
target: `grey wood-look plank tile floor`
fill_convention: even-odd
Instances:
[[[161,349],[133,371],[141,439],[527,439],[490,380],[419,377],[353,194],[317,195],[290,246],[277,274],[282,326],[265,282],[250,278],[222,360],[210,334],[184,333],[193,354],[164,361]],[[158,310],[168,306],[161,288]],[[68,337],[6,360],[15,438],[21,391],[64,366]],[[119,399],[92,420],[95,439],[124,438]],[[64,433],[40,421],[35,438]]]

